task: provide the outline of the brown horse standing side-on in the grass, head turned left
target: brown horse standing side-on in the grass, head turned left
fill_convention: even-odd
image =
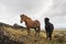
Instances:
[[[34,29],[35,35],[36,35],[36,33],[38,33],[38,35],[40,35],[41,24],[37,20],[33,21],[31,18],[26,16],[25,14],[21,14],[20,18],[21,18],[21,23],[25,22],[28,34],[31,33],[30,29]]]

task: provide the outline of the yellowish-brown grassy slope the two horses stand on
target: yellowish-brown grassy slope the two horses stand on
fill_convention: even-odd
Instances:
[[[0,44],[66,44],[66,31],[54,31],[53,40],[48,41],[45,38],[44,31],[35,37],[33,30],[31,30],[31,35],[28,35],[26,29],[14,29],[4,24],[0,28],[2,28],[0,29]]]

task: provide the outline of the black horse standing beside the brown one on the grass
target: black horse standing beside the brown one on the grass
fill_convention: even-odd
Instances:
[[[54,30],[54,25],[50,22],[48,18],[45,18],[45,31],[46,31],[46,38],[52,40],[52,33]]]

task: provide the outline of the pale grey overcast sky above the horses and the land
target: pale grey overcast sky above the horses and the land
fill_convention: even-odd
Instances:
[[[55,28],[66,28],[66,0],[0,0],[0,22],[25,26],[20,23],[20,14],[26,14],[41,22],[50,18]]]

